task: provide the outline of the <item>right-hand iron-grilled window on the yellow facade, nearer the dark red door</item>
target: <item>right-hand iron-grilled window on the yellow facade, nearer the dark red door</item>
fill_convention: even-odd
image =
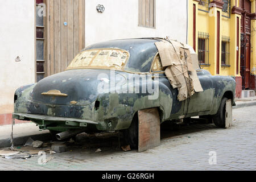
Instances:
[[[221,67],[230,67],[229,46],[230,46],[229,36],[222,36],[222,38],[221,38]]]

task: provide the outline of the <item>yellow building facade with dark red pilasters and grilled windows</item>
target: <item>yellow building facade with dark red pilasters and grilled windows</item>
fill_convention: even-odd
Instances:
[[[256,0],[189,0],[188,44],[201,68],[236,78],[236,97],[255,89]]]

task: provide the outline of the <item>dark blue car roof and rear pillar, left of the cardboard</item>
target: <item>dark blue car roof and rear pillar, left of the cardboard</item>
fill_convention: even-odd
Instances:
[[[131,72],[149,72],[152,61],[158,49],[155,42],[160,41],[156,38],[139,38],[139,39],[119,39],[109,40],[92,44],[84,50],[100,48],[119,48],[130,53],[130,58],[125,66],[126,71]]]

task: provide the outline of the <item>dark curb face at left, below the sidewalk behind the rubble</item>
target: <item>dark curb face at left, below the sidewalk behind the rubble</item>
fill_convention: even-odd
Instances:
[[[20,146],[27,142],[28,138],[32,138],[33,140],[40,140],[42,142],[46,142],[51,140],[50,133],[36,134],[36,135],[27,135],[23,137],[14,138],[14,146]],[[0,139],[0,148],[11,147],[11,138]]]

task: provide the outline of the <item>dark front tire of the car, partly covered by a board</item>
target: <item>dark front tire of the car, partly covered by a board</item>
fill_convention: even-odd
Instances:
[[[227,100],[228,100],[228,98],[226,98],[226,97],[222,98],[220,107],[218,108],[218,111],[217,111],[217,114],[215,114],[213,116],[213,123],[217,127],[225,128],[225,124],[226,124],[225,114],[226,114],[226,101]]]

